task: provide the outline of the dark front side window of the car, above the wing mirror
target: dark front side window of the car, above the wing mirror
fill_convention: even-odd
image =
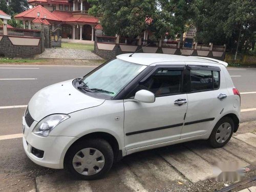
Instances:
[[[133,98],[139,90],[148,90],[156,97],[181,93],[182,71],[158,69],[153,76],[140,83],[127,98]]]

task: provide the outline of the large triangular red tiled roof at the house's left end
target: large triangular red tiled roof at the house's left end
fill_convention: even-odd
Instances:
[[[32,9],[29,9],[27,11],[24,11],[22,13],[19,13],[15,16],[15,18],[20,18],[20,17],[29,17],[29,18],[37,18],[37,13],[40,13],[39,18],[44,18],[44,16],[46,16],[46,18],[48,20],[58,20],[60,21],[60,19],[58,17],[56,17],[55,15],[53,15],[50,11],[48,11],[47,9],[45,9],[44,7],[38,5]]]

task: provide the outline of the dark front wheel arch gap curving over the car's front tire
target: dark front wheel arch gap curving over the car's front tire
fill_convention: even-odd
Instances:
[[[80,137],[79,139],[77,139],[75,142],[73,142],[69,149],[67,150],[66,154],[65,154],[65,157],[64,157],[64,164],[66,162],[66,158],[67,158],[67,154],[69,153],[69,150],[70,148],[79,143],[79,142],[85,142],[87,139],[104,139],[106,140],[107,142],[110,143],[111,147],[112,147],[112,150],[114,152],[114,162],[117,162],[119,160],[122,159],[122,150],[120,150],[120,147],[119,147],[119,144],[118,144],[118,141],[117,139],[111,135],[110,133],[106,133],[106,132],[93,132],[93,133],[89,133],[87,135],[84,135],[82,137]]]

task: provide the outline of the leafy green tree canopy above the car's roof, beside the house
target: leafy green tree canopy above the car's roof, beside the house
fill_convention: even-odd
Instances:
[[[89,14],[100,17],[108,35],[136,37],[149,29],[155,38],[175,37],[185,30],[189,0],[88,0]]]

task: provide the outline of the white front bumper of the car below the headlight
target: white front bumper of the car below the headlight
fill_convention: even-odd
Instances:
[[[32,133],[36,123],[37,122],[33,122],[33,124],[28,127],[25,119],[23,118],[23,125],[25,126],[23,147],[27,156],[38,165],[56,169],[63,168],[65,154],[77,138],[65,136],[37,136]],[[42,158],[38,158],[33,155],[31,153],[32,147],[37,150],[44,151],[44,156]]]

